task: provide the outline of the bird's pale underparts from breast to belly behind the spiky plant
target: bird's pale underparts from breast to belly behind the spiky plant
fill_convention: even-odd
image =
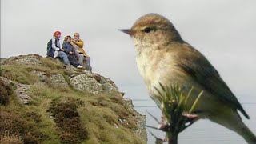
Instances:
[[[154,60],[154,58],[147,58],[146,55],[141,55],[141,57],[136,58],[138,64],[139,73],[142,75],[146,88],[150,94],[150,97],[158,96],[157,90],[160,89],[159,83],[163,86],[176,85],[181,86],[183,92],[187,94],[192,86],[194,86],[194,92],[191,94],[188,101],[187,107],[191,107],[198,97],[198,94],[204,90],[202,86],[194,82],[190,76],[185,74],[182,70],[178,69],[176,63],[172,61],[169,57],[168,61],[166,59]],[[213,95],[209,94],[204,90],[202,97],[199,99],[195,111],[198,111],[198,115],[201,118],[206,118],[208,115],[214,113],[218,110],[218,105],[220,102]]]

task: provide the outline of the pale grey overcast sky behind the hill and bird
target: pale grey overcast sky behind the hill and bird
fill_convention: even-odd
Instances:
[[[239,101],[256,102],[255,7],[255,0],[1,0],[1,58],[46,56],[55,30],[62,38],[79,32],[94,72],[114,80],[126,97],[149,98],[133,42],[118,29],[158,13],[206,55]]]

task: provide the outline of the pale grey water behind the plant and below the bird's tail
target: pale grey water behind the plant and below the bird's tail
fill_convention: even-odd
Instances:
[[[146,115],[146,124],[149,126],[158,126],[150,114],[153,114],[156,118],[160,119],[161,110],[155,105],[154,101],[150,99],[146,93],[145,88],[137,86],[121,86],[122,90],[126,92],[126,98],[133,100],[135,109],[139,113]],[[237,94],[237,93],[236,93]],[[237,97],[239,102],[246,112],[250,115],[250,120],[247,120],[242,116],[246,126],[250,127],[250,130],[256,134],[256,97],[255,94],[238,93],[240,97]],[[241,114],[242,115],[242,114]],[[164,138],[165,134],[159,130],[153,130],[146,128],[148,132],[148,144],[154,144],[154,137],[149,133],[152,132],[158,138]],[[192,126],[183,131],[178,138],[178,142],[181,144],[194,143],[194,144],[246,144],[241,136],[234,133],[231,130],[226,129],[223,126],[210,122],[209,120],[200,120],[194,123]]]

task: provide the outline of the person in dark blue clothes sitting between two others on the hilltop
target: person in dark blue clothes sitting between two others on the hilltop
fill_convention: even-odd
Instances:
[[[71,45],[71,37],[68,35],[64,38],[64,42],[62,44],[62,49],[65,51],[70,64],[72,66],[75,66],[77,68],[82,68],[82,66],[79,65],[77,58],[75,57],[75,51],[74,47]]]

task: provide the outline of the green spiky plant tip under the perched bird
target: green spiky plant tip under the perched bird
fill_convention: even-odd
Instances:
[[[178,85],[164,87],[160,84],[161,89],[157,89],[158,96],[153,98],[159,108],[162,110],[162,116],[166,121],[166,138],[169,143],[178,143],[178,134],[191,126],[193,122],[185,114],[193,114],[194,107],[196,106],[199,98],[201,98],[203,91],[198,94],[193,105],[188,108],[186,106],[188,99],[193,91],[191,87],[188,94],[184,94]]]

